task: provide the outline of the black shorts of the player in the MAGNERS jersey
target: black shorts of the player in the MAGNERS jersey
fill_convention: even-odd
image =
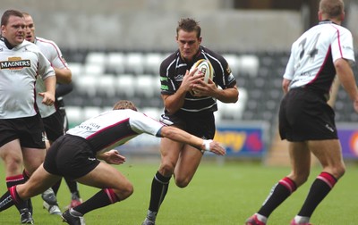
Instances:
[[[40,115],[0,120],[0,146],[15,139],[20,140],[22,147],[44,149],[44,124]]]

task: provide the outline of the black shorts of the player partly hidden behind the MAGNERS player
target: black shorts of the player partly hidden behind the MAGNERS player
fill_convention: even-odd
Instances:
[[[50,116],[42,118],[44,121],[47,139],[54,142],[64,135],[64,117],[59,110]]]

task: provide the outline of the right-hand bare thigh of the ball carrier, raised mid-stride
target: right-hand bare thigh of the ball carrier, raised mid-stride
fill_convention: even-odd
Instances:
[[[185,145],[175,166],[175,182],[179,187],[185,187],[192,180],[198,169],[202,153],[199,149]]]

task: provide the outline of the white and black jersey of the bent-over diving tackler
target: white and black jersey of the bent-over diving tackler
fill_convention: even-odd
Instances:
[[[141,133],[160,137],[163,126],[141,112],[125,109],[102,112],[69,129],[66,134],[87,139],[95,152],[106,152]]]

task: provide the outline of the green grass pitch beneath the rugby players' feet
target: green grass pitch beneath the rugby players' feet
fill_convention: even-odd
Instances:
[[[1,162],[2,163],[2,162]],[[0,163],[0,191],[4,184],[4,165]],[[85,215],[87,225],[140,225],[148,204],[151,180],[158,169],[158,161],[141,162],[130,158],[116,166],[132,181],[134,193],[116,204],[89,212]],[[358,166],[349,164],[345,177],[319,205],[311,222],[315,225],[358,224]],[[171,180],[168,195],[158,213],[158,225],[237,225],[260,208],[270,188],[289,172],[287,167],[266,167],[254,162],[207,162],[200,164],[192,183],[185,188],[175,186]],[[311,177],[290,198],[280,205],[269,218],[268,224],[289,224],[300,210],[311,182],[320,173],[314,167]],[[80,185],[83,200],[98,192],[97,188]],[[61,208],[70,203],[70,193],[63,180],[57,195]],[[40,196],[32,198],[35,224],[64,224],[59,216],[49,215],[42,208]],[[19,224],[20,216],[13,206],[0,212],[0,224]]]

